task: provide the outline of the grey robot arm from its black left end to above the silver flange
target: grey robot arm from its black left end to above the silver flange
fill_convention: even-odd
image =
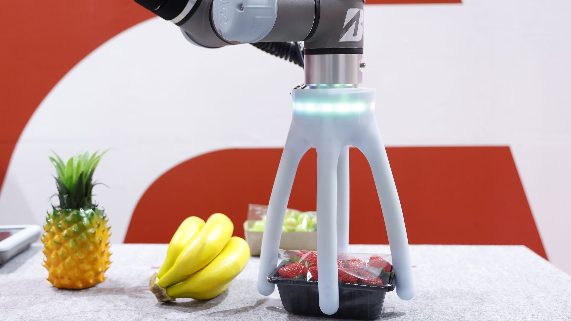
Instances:
[[[204,47],[305,41],[363,48],[362,0],[135,0]]]

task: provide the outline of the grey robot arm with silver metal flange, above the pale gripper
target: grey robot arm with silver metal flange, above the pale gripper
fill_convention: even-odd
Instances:
[[[297,46],[294,49],[287,43],[303,41],[305,83],[309,86],[362,82],[363,0],[135,2],[175,23],[188,41],[202,47],[252,43],[303,66],[295,57]]]

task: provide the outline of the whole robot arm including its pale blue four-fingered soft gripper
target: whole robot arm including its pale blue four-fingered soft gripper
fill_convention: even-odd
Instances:
[[[159,17],[175,23],[183,31],[188,41],[195,45],[218,48],[239,43],[252,43],[278,57],[286,58],[304,66],[305,84],[309,90],[294,90],[292,97],[294,105],[308,105],[312,110],[324,105],[325,111],[332,106],[351,105],[342,103],[349,99],[356,103],[357,111],[361,114],[352,117],[329,117],[327,113],[320,117],[303,117],[296,113],[292,119],[294,143],[286,143],[286,149],[280,162],[274,191],[268,207],[268,219],[262,255],[260,256],[259,291],[264,295],[274,291],[272,284],[267,282],[267,273],[275,268],[272,259],[277,258],[283,214],[286,211],[289,198],[288,188],[291,189],[297,162],[309,147],[316,146],[318,157],[317,172],[317,215],[319,260],[319,302],[321,311],[333,314],[339,307],[337,297],[337,262],[335,241],[335,218],[332,213],[342,216],[343,222],[348,221],[348,210],[336,210],[336,176],[337,160],[340,159],[341,146],[356,146],[361,149],[371,163],[373,176],[379,199],[383,207],[387,234],[393,255],[393,266],[398,271],[396,277],[397,294],[408,300],[414,296],[414,282],[408,253],[408,239],[404,227],[403,213],[400,207],[396,186],[392,178],[387,154],[380,138],[372,111],[359,109],[370,106],[374,102],[374,90],[360,90],[361,57],[363,56],[363,0],[135,0],[146,9]],[[301,57],[296,42],[304,42],[304,58]],[[295,43],[293,45],[291,42]],[[294,58],[297,57],[297,58]],[[319,88],[319,89],[318,89]],[[326,88],[326,89],[323,89]],[[315,90],[311,90],[315,89]],[[301,99],[301,98],[307,99]],[[297,102],[296,102],[297,99]],[[360,107],[359,107],[360,106]],[[337,107],[336,107],[337,108]],[[347,112],[347,106],[339,106]],[[300,109],[301,110],[301,109]],[[301,112],[300,112],[301,113]],[[355,118],[356,117],[356,118]],[[365,118],[369,125],[365,126]],[[356,125],[347,125],[351,119],[356,119]],[[343,121],[343,126],[333,126]],[[329,127],[321,129],[323,123]],[[347,126],[345,126],[347,125]],[[303,127],[315,136],[309,142],[311,135],[303,139],[296,138],[297,127]],[[332,130],[336,129],[336,130]],[[349,129],[354,129],[354,133]],[[340,140],[340,133],[347,137]],[[323,139],[321,139],[323,138]],[[288,141],[289,141],[288,137]],[[297,141],[297,142],[295,142]],[[322,142],[324,141],[324,142]],[[328,143],[326,147],[323,147]],[[293,145],[292,145],[293,144]],[[293,152],[290,153],[292,147]],[[319,145],[319,146],[318,146]],[[335,146],[333,146],[335,145]],[[337,146],[339,145],[339,146]],[[321,146],[321,147],[320,147]],[[333,147],[331,147],[333,146]],[[306,148],[307,147],[307,148]],[[331,147],[331,148],[329,148]],[[325,151],[323,151],[325,150]],[[294,155],[295,153],[300,155]],[[293,153],[293,154],[292,154]],[[348,162],[348,149],[344,149],[344,158]],[[290,155],[291,154],[291,155]],[[293,159],[293,160],[292,160]],[[331,162],[330,162],[331,161]],[[348,163],[345,162],[343,180],[348,184]],[[335,166],[333,166],[335,165]],[[284,169],[281,169],[284,168]],[[321,168],[321,169],[320,169]],[[324,169],[325,168],[325,169]],[[333,179],[334,178],[334,179]],[[333,186],[333,187],[332,187]],[[348,188],[348,187],[347,187]],[[343,193],[341,193],[343,194]],[[348,195],[348,190],[347,190]],[[348,199],[346,200],[348,202]],[[348,203],[347,203],[348,204]],[[347,209],[348,207],[345,206]],[[343,213],[344,214],[343,214]],[[328,216],[329,215],[329,216]],[[341,226],[342,224],[340,224]],[[271,232],[268,229],[272,228]],[[348,226],[336,231],[344,235],[340,242],[347,248]],[[332,234],[333,233],[333,234]],[[341,248],[341,247],[340,247]],[[274,264],[272,266],[272,264]]]

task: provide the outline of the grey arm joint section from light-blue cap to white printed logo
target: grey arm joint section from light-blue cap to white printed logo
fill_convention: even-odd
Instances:
[[[305,41],[306,48],[363,48],[362,0],[214,0],[227,41]]]

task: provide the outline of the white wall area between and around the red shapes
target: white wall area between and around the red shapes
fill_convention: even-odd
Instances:
[[[571,274],[571,2],[465,0],[365,7],[364,86],[387,145],[509,145],[549,259]],[[83,59],[23,132],[0,224],[42,223],[49,149],[113,147],[96,199],[122,242],[168,168],[211,150],[283,146],[300,67],[250,45],[209,50],[159,18]],[[166,143],[168,142],[168,143]],[[158,214],[159,215],[159,214]],[[149,222],[152,224],[152,222]]]

